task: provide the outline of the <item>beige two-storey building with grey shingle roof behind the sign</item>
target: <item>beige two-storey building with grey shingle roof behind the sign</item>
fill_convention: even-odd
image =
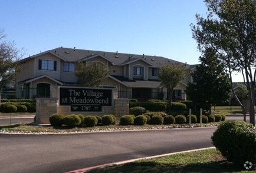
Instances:
[[[159,93],[163,93],[167,98],[166,88],[157,79],[157,72],[161,65],[178,62],[162,56],[61,47],[22,59],[21,64],[24,68],[19,72],[15,85],[17,88],[22,87],[23,98],[48,97],[50,85],[79,85],[74,74],[78,61],[100,62],[107,65],[110,74],[103,86],[117,88],[119,98],[139,100],[159,99]],[[194,69],[196,66],[179,63],[186,65],[188,69]],[[184,90],[191,80],[191,76],[188,75],[180,81],[173,93],[174,99],[186,99]],[[17,98],[20,97],[17,95]]]

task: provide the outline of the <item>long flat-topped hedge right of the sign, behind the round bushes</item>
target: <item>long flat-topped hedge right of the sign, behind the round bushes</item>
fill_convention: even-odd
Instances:
[[[143,107],[147,111],[165,111],[168,109],[168,102],[129,102],[129,108]]]

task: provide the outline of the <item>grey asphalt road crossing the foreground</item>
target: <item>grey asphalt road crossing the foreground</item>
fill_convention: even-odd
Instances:
[[[0,134],[0,172],[67,172],[124,161],[213,147],[216,127],[84,134]]]

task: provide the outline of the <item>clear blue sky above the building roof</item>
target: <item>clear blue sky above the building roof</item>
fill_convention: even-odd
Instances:
[[[65,47],[200,64],[190,24],[203,0],[0,0],[0,28],[26,55]],[[243,81],[241,74],[233,82]]]

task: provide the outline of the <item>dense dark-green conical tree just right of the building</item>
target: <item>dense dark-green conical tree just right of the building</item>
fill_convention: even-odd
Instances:
[[[231,95],[231,84],[224,69],[224,64],[216,59],[214,52],[200,57],[201,65],[196,66],[191,76],[193,82],[186,87],[186,94],[195,104],[212,114],[212,104],[221,104],[228,101]]]

